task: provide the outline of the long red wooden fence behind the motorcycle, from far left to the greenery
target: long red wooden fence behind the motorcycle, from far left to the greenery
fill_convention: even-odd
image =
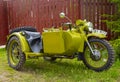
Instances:
[[[58,27],[67,22],[59,18],[59,13],[65,12],[73,22],[76,19],[86,19],[93,22],[95,28],[108,31],[108,36],[111,37],[111,32],[102,22],[105,19],[103,14],[115,12],[115,6],[109,0],[6,0],[4,3],[7,4],[7,9],[3,9],[6,15],[4,17],[8,17],[6,25],[9,31],[19,26],[33,26],[39,32],[44,27]],[[2,38],[5,42],[5,37]]]

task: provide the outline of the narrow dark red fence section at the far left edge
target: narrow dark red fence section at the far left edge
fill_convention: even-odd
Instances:
[[[0,45],[6,43],[6,36],[8,34],[8,21],[6,8],[7,8],[6,2],[0,0]]]

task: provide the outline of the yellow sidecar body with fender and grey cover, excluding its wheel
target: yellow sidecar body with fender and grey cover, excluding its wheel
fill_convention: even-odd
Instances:
[[[9,35],[8,40],[16,36],[22,46],[26,58],[35,56],[71,56],[75,52],[83,52],[84,36],[74,31],[54,30],[43,32],[15,32]]]

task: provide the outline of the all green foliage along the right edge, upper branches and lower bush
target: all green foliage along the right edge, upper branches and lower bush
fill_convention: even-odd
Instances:
[[[117,11],[114,15],[106,15],[107,20],[105,20],[105,22],[107,24],[107,27],[115,33],[112,45],[116,52],[116,58],[120,59],[120,0],[109,1],[115,4]]]

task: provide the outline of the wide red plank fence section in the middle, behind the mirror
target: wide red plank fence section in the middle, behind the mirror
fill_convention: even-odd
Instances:
[[[79,0],[13,0],[8,2],[9,30],[18,26],[58,27],[67,20],[60,19],[65,12],[70,19],[79,18]]]

